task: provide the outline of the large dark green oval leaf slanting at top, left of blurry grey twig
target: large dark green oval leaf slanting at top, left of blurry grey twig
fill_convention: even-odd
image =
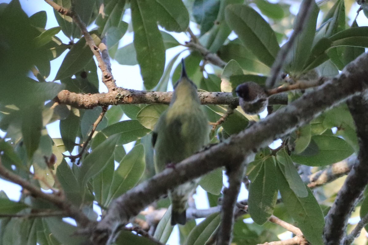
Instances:
[[[280,47],[275,32],[254,9],[230,4],[225,11],[226,22],[239,39],[264,64],[271,67]]]

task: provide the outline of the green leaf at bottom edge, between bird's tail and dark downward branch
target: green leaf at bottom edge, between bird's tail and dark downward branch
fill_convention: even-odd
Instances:
[[[206,217],[190,232],[184,245],[203,245],[215,233],[217,226],[220,224],[219,213],[213,213]]]

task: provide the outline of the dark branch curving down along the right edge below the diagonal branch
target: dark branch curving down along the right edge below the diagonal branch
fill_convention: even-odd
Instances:
[[[349,172],[325,217],[323,238],[326,245],[341,243],[350,214],[368,183],[368,102],[364,94],[360,94],[348,100],[347,104],[357,128],[358,163]]]

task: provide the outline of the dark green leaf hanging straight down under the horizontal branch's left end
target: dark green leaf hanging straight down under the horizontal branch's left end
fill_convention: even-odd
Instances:
[[[79,111],[71,108],[69,116],[60,120],[60,134],[67,151],[72,152],[75,147],[75,138],[79,130]]]

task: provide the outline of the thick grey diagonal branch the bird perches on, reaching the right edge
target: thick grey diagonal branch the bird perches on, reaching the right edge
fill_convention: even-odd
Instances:
[[[178,163],[175,169],[165,169],[125,192],[110,205],[106,216],[98,223],[91,236],[93,244],[104,244],[110,236],[115,235],[116,230],[128,223],[140,210],[166,194],[167,190],[224,164],[238,165],[245,157],[305,125],[323,111],[361,93],[368,84],[368,70],[365,69],[367,66],[368,56],[362,54],[330,82],[305,93],[291,104],[224,142],[192,155]]]

